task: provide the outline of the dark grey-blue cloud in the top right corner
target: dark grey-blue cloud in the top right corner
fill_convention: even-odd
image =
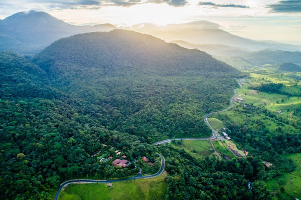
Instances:
[[[301,12],[301,0],[280,0],[267,5],[272,12]]]

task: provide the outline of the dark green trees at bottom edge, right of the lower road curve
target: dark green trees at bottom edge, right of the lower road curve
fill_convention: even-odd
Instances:
[[[167,199],[271,199],[272,194],[257,184],[248,189],[249,180],[264,173],[259,159],[195,158],[167,146],[161,151],[170,175]]]

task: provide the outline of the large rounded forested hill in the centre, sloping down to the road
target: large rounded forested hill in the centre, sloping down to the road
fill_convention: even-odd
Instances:
[[[104,126],[152,142],[210,134],[203,115],[228,103],[239,75],[205,52],[128,30],[63,38],[34,61]]]

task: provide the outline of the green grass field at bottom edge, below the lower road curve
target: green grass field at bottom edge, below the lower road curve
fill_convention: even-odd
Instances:
[[[154,178],[114,182],[111,187],[104,183],[70,184],[60,194],[59,200],[103,199],[164,199],[167,173]]]

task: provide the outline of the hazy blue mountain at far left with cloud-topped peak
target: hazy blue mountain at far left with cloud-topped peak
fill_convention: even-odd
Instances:
[[[111,24],[75,26],[35,10],[18,12],[0,20],[0,50],[36,53],[62,37],[115,28]]]

